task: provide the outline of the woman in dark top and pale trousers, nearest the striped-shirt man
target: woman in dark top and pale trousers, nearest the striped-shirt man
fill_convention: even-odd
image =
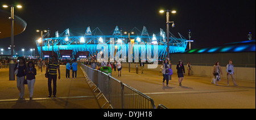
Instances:
[[[28,91],[30,92],[30,100],[32,100],[32,96],[34,93],[34,85],[35,85],[35,75],[36,75],[36,68],[32,61],[28,62],[27,67],[27,87]]]

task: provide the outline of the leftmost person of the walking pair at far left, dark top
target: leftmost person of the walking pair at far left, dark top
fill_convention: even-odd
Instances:
[[[17,88],[19,90],[19,98],[24,97],[24,80],[25,76],[27,74],[27,66],[24,58],[19,58],[19,63],[15,65],[14,71],[18,70],[18,73],[16,75],[16,82],[17,82]]]

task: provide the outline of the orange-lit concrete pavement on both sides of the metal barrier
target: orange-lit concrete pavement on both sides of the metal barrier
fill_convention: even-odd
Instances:
[[[44,72],[38,70],[36,75],[34,98],[29,100],[25,85],[24,100],[18,100],[19,91],[16,81],[9,81],[8,69],[0,70],[0,108],[100,108],[92,89],[85,81],[79,68],[77,79],[65,78],[65,67],[61,66],[61,79],[57,80],[57,98],[48,98],[47,79]],[[144,70],[144,74],[135,73],[135,69],[123,67],[122,76],[112,73],[114,78],[130,85],[155,101],[155,105],[163,104],[167,108],[254,108],[255,82],[237,81],[238,86],[226,85],[221,79],[218,86],[210,84],[211,78],[204,76],[184,76],[179,86],[177,75],[172,75],[169,87],[163,85],[162,73]]]

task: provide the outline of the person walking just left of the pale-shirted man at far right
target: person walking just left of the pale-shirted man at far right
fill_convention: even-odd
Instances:
[[[212,74],[214,77],[212,83],[218,85],[218,82],[220,81],[220,77],[222,75],[221,66],[219,62],[216,62],[214,64]]]

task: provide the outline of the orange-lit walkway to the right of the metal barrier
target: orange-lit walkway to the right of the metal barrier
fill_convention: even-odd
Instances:
[[[122,83],[130,85],[145,95],[151,97],[155,105],[163,104],[167,108],[254,108],[255,82],[237,81],[238,86],[226,85],[226,79],[221,79],[218,86],[211,84],[210,77],[184,76],[182,86],[179,86],[177,74],[174,70],[169,87],[163,85],[163,74],[157,71],[144,70],[144,74],[136,74],[135,68],[131,72],[126,67],[122,69],[122,76],[113,72],[112,76]],[[225,75],[225,74],[224,74]]]

